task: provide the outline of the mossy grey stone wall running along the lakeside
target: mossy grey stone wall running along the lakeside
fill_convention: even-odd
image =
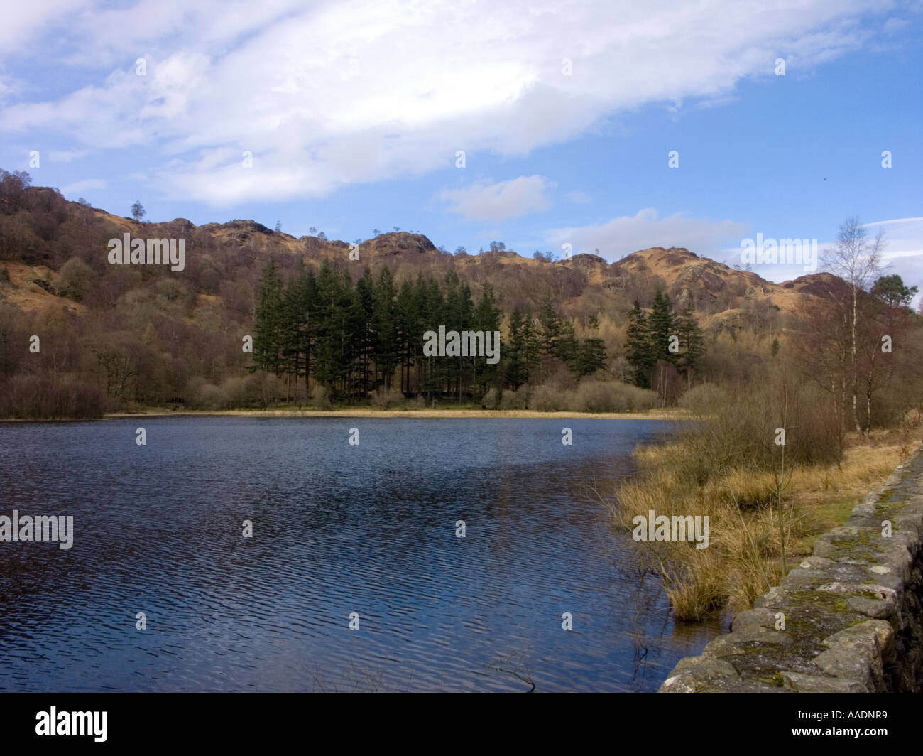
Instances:
[[[659,692],[920,692],[921,569],[923,447]]]

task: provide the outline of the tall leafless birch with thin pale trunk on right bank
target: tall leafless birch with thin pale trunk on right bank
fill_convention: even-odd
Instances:
[[[859,292],[867,292],[881,273],[881,251],[884,249],[884,233],[880,229],[874,240],[869,239],[866,227],[854,215],[847,218],[832,248],[824,250],[821,262],[824,270],[839,276],[848,285],[845,306],[849,323],[849,351],[851,391],[853,403],[853,424],[857,433],[862,433],[858,415],[858,346],[857,323],[862,299]]]

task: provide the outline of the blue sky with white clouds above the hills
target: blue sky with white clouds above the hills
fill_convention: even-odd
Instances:
[[[822,252],[855,216],[923,288],[920,0],[42,0],[4,21],[0,167],[111,213],[731,265],[758,234]]]

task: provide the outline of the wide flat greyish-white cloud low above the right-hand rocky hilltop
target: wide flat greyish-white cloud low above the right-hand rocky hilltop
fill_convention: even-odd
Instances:
[[[554,228],[546,232],[545,238],[557,246],[571,244],[574,254],[598,249],[601,257],[615,262],[650,247],[685,247],[710,257],[722,250],[728,239],[748,230],[749,224],[688,218],[682,213],[659,218],[653,208],[645,208],[635,215],[622,215],[593,226]]]

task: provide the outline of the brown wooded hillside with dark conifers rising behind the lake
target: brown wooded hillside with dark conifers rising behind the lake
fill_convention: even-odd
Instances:
[[[388,389],[393,379],[405,396],[418,396],[426,384],[426,396],[457,400],[476,400],[491,386],[497,396],[523,384],[569,390],[590,373],[594,380],[631,382],[629,311],[636,300],[650,310],[658,291],[677,313],[691,308],[701,327],[705,354],[695,366],[697,380],[744,379],[769,359],[773,340],[823,295],[830,278],[774,284],[681,248],[639,250],[614,263],[590,254],[549,262],[512,250],[451,254],[407,232],[379,234],[354,249],[346,241],[294,238],[251,220],[142,223],[67,201],[56,189],[30,187],[24,176],[4,172],[0,180],[0,383],[7,382],[10,396],[30,396],[36,381],[60,383],[62,376],[98,392],[107,408],[214,404],[218,399],[202,397],[225,396],[217,387],[235,381],[246,384],[251,399],[256,391],[258,403],[280,392],[311,396],[315,382],[337,396],[363,397],[377,386]],[[110,240],[126,234],[182,239],[182,270],[112,264]],[[268,262],[277,276],[270,295],[260,285]],[[320,295],[326,304],[318,305]],[[259,311],[266,296],[278,299],[272,307],[295,308],[294,320],[280,321],[276,335],[266,335],[266,308]],[[311,315],[316,306],[320,311]],[[315,327],[311,317],[328,319],[322,328],[334,327],[329,319],[341,311],[366,318],[366,325],[350,325],[358,331],[343,332],[340,346],[325,347],[330,364],[310,362],[305,376],[315,336],[302,332]],[[483,317],[508,345],[495,369],[484,372],[470,361],[424,369],[419,348],[426,329]],[[553,325],[559,348],[549,347],[547,335],[542,346],[549,317],[560,319]],[[388,335],[388,329],[396,330]],[[259,365],[241,341],[255,334],[263,351],[267,338],[281,339],[272,347],[278,360],[260,364],[284,386],[270,381],[267,388],[260,378],[264,383],[254,387],[251,373]],[[40,352],[27,350],[30,335],[41,337]],[[379,343],[385,335],[397,339],[392,347]],[[303,336],[305,344],[298,341]],[[341,360],[340,372],[325,372],[330,360]],[[690,384],[686,370],[685,380],[669,378],[672,387],[661,402]]]

